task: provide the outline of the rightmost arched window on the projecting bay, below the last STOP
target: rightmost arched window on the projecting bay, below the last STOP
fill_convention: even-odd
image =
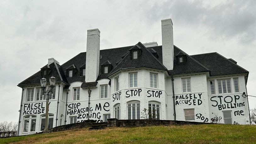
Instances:
[[[160,119],[161,103],[157,101],[148,102],[148,117],[149,119]]]

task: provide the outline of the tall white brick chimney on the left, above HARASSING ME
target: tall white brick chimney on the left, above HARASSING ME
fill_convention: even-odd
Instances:
[[[87,30],[85,81],[94,82],[99,75],[100,30]]]

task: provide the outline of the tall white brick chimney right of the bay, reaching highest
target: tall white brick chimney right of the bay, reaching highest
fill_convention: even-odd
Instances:
[[[173,69],[173,29],[172,20],[163,19],[162,23],[162,50],[163,50],[163,64],[168,70]]]

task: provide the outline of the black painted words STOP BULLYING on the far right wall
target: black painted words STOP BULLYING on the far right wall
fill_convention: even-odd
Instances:
[[[226,109],[226,108],[238,108],[243,107],[244,102],[237,102],[239,100],[240,96],[234,95],[234,97],[226,96],[223,98],[223,96],[213,96],[211,97],[212,102],[216,102],[216,104],[212,104],[213,107],[219,108],[219,110]],[[234,101],[234,102],[233,102]]]

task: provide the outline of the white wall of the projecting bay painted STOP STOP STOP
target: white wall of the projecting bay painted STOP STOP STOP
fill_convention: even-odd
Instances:
[[[138,83],[137,87],[129,87],[129,73],[137,72]],[[159,103],[160,104],[160,119],[166,119],[166,108],[165,108],[165,75],[164,73],[155,72],[158,75],[158,86],[157,88],[150,87],[150,72],[148,70],[137,70],[137,71],[127,71],[120,75],[116,75],[111,79],[111,118],[114,118],[114,107],[120,104],[120,119],[128,119],[127,114],[127,102],[139,101],[140,102],[140,117],[141,112],[144,108],[148,109],[148,103]],[[119,91],[115,91],[115,78],[119,77]],[[140,91],[140,92],[135,92]],[[157,91],[157,92],[156,92]],[[160,96],[159,96],[160,91]],[[120,94],[121,95],[117,96]],[[154,93],[154,97],[153,97]],[[155,97],[155,93],[158,93]],[[134,95],[136,94],[136,95]],[[151,96],[150,96],[151,94]]]

